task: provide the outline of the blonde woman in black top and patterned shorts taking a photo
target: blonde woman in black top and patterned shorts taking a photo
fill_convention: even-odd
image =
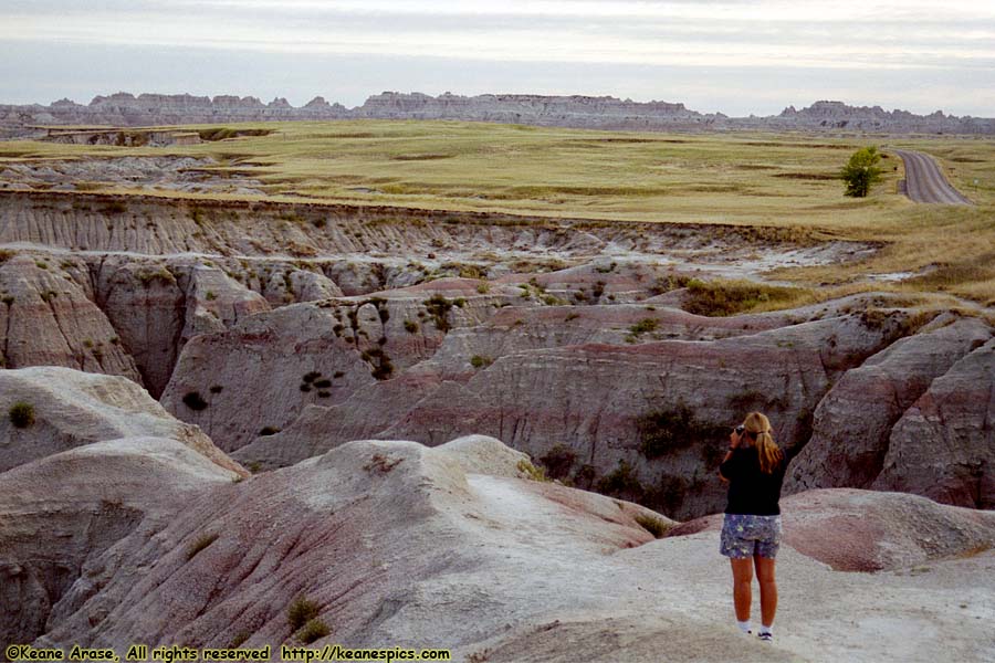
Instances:
[[[761,588],[760,636],[767,641],[774,639],[777,611],[774,558],[781,546],[779,501],[785,465],[771,422],[760,412],[751,412],[730,435],[729,453],[719,466],[719,475],[729,482],[720,551],[732,565],[736,621],[744,633],[752,632],[750,604],[756,568]]]

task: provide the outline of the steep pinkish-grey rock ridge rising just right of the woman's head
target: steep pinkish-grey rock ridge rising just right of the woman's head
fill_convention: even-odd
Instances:
[[[992,336],[992,328],[978,318],[944,315],[847,371],[819,402],[811,440],[792,461],[785,492],[870,487],[884,465],[899,419],[936,378]],[[920,488],[932,483],[919,481]]]

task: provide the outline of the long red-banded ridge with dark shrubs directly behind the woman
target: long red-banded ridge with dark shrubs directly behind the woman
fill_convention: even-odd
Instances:
[[[304,409],[283,433],[235,457],[286,464],[356,436],[438,444],[482,432],[534,459],[562,455],[561,476],[577,485],[678,517],[708,513],[721,506],[713,474],[736,418],[765,410],[782,444],[800,448],[810,413],[839,376],[910,320],[894,312],[719,340],[528,349],[494,358],[464,382],[446,381],[433,366],[443,357],[433,358],[342,404]]]

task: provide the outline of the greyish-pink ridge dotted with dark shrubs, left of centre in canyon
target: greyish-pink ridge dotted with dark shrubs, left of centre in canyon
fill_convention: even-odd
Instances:
[[[440,280],[247,318],[187,344],[163,403],[223,449],[238,449],[279,432],[307,406],[335,406],[396,377],[430,357],[450,329],[478,325],[516,297],[500,287],[480,294],[478,283]],[[467,296],[447,297],[454,293]],[[187,402],[192,393],[206,399],[202,407]]]

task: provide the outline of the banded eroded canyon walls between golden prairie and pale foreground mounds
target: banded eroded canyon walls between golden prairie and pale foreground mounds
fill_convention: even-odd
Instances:
[[[484,433],[562,482],[688,517],[722,507],[729,428],[760,409],[797,454],[788,492],[991,504],[987,401],[972,396],[953,432],[955,397],[931,400],[943,380],[964,391],[962,362],[989,370],[983,317],[873,294],[732,317],[681,308],[692,274],[871,245],[345,206],[0,201],[6,365],[125,376],[255,469],[357,439]],[[950,463],[930,465],[908,432],[923,425],[946,431]]]

